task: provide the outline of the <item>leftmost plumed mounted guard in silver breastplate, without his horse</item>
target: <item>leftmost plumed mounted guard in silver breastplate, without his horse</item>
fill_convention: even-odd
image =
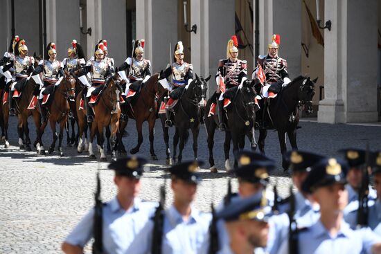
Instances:
[[[33,64],[35,63],[35,59],[28,56],[28,47],[26,46],[24,39],[17,41],[15,44],[14,53],[15,55],[13,57],[13,61],[10,61],[10,64],[6,65],[6,67],[3,69],[3,71],[5,71],[4,75],[8,81],[7,85],[10,84],[10,89],[9,87],[7,88],[9,91],[8,104],[10,108],[10,116],[15,115],[15,108],[12,104],[12,98],[14,96],[18,97],[20,94],[14,94],[14,91],[16,90],[15,85],[21,80],[24,80],[24,82],[26,81],[26,78],[28,78],[30,73],[33,72]],[[13,72],[13,77],[10,76],[10,71]]]

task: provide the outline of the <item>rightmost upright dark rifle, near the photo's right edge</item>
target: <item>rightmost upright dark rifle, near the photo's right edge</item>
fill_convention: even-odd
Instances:
[[[366,144],[365,168],[362,170],[362,181],[359,190],[359,209],[357,210],[357,228],[368,226],[368,195],[369,195],[369,169],[370,169],[369,143]]]

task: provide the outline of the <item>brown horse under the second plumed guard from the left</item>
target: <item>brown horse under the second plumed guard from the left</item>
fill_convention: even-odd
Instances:
[[[64,156],[62,152],[62,138],[64,137],[64,127],[67,123],[67,117],[69,116],[69,102],[68,100],[73,100],[76,97],[76,78],[73,77],[66,70],[64,71],[64,78],[58,85],[54,85],[53,91],[51,92],[52,98],[49,98],[50,105],[48,105],[48,111],[46,120],[51,125],[51,130],[53,133],[53,141],[51,143],[51,147],[48,149],[48,153],[52,154],[54,152],[55,143],[58,140],[58,151],[60,152],[60,156]],[[49,103],[49,101],[47,102]],[[41,136],[44,134],[45,127],[47,125],[47,121],[42,123],[41,125]],[[55,123],[60,125],[60,134],[57,136],[57,132],[55,131]],[[42,140],[40,140],[40,146],[43,147]],[[39,146],[37,144],[37,147]],[[38,148],[37,148],[38,149]]]

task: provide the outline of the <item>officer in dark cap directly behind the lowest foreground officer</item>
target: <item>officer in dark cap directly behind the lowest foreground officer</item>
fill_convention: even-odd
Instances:
[[[274,202],[274,193],[266,191],[266,185],[269,183],[269,172],[275,169],[276,164],[271,159],[263,154],[242,150],[237,153],[238,168],[231,170],[238,179],[238,193],[231,194],[228,190],[227,197],[224,202],[218,206],[217,211],[220,211],[229,203],[252,197],[255,194],[263,193],[267,206],[272,206]],[[224,249],[229,245],[229,235],[222,221],[217,222],[218,228],[218,246],[220,251],[224,253]],[[263,250],[256,250],[256,253]]]

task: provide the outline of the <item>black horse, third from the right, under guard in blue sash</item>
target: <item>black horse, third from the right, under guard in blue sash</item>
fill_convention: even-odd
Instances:
[[[188,88],[184,89],[181,98],[177,101],[177,105],[173,108],[171,120],[174,123],[175,136],[173,137],[173,158],[174,163],[181,163],[182,151],[189,137],[188,129],[192,131],[193,136],[193,154],[197,160],[197,138],[200,132],[200,120],[202,117],[201,111],[205,107],[207,83],[211,75],[204,79],[196,74],[195,80],[190,82]],[[161,125],[163,127],[164,140],[166,142],[167,164],[171,163],[168,160],[170,149],[168,146],[168,127],[165,126],[166,114],[159,114]],[[177,154],[177,145],[179,144],[179,156]]]

